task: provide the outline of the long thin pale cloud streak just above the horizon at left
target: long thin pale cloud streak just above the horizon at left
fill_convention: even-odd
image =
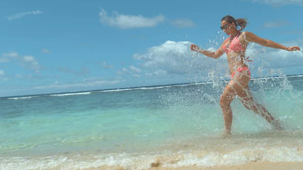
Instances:
[[[120,80],[113,80],[113,81],[93,81],[93,82],[88,82],[88,83],[72,83],[72,84],[54,84],[54,85],[48,85],[48,86],[36,86],[33,87],[33,89],[52,89],[52,88],[71,88],[71,87],[96,87],[96,86],[100,86],[100,85],[113,85],[113,84],[117,84],[117,83],[121,83]]]

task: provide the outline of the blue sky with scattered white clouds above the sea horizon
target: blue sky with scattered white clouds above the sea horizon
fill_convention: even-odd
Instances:
[[[220,2],[220,3],[218,3]],[[0,96],[122,88],[227,78],[221,18],[303,47],[303,1],[2,1]],[[251,44],[252,76],[303,74],[302,51]]]

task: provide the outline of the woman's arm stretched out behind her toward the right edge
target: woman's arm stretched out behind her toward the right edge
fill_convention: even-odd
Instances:
[[[251,33],[251,32],[248,32],[248,31],[245,31],[243,33],[244,33],[245,39],[249,42],[256,42],[256,43],[258,43],[260,45],[263,45],[263,46],[268,46],[268,47],[277,48],[277,49],[284,49],[284,50],[288,50],[288,51],[301,50],[298,46],[287,47],[287,46],[278,44],[274,41],[271,41],[269,39],[264,39],[264,38],[258,37],[254,33]]]

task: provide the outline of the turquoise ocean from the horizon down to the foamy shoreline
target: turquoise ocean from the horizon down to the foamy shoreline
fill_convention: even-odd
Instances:
[[[0,169],[148,169],[303,161],[303,77],[251,80],[283,131],[232,102],[227,82],[201,82],[0,98]]]

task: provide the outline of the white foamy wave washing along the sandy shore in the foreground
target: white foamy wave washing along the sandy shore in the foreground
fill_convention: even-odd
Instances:
[[[0,168],[9,169],[150,169],[158,164],[162,167],[239,165],[259,162],[302,162],[301,146],[296,147],[246,147],[218,151],[165,151],[162,153],[113,153],[75,154],[48,157],[0,157]]]

